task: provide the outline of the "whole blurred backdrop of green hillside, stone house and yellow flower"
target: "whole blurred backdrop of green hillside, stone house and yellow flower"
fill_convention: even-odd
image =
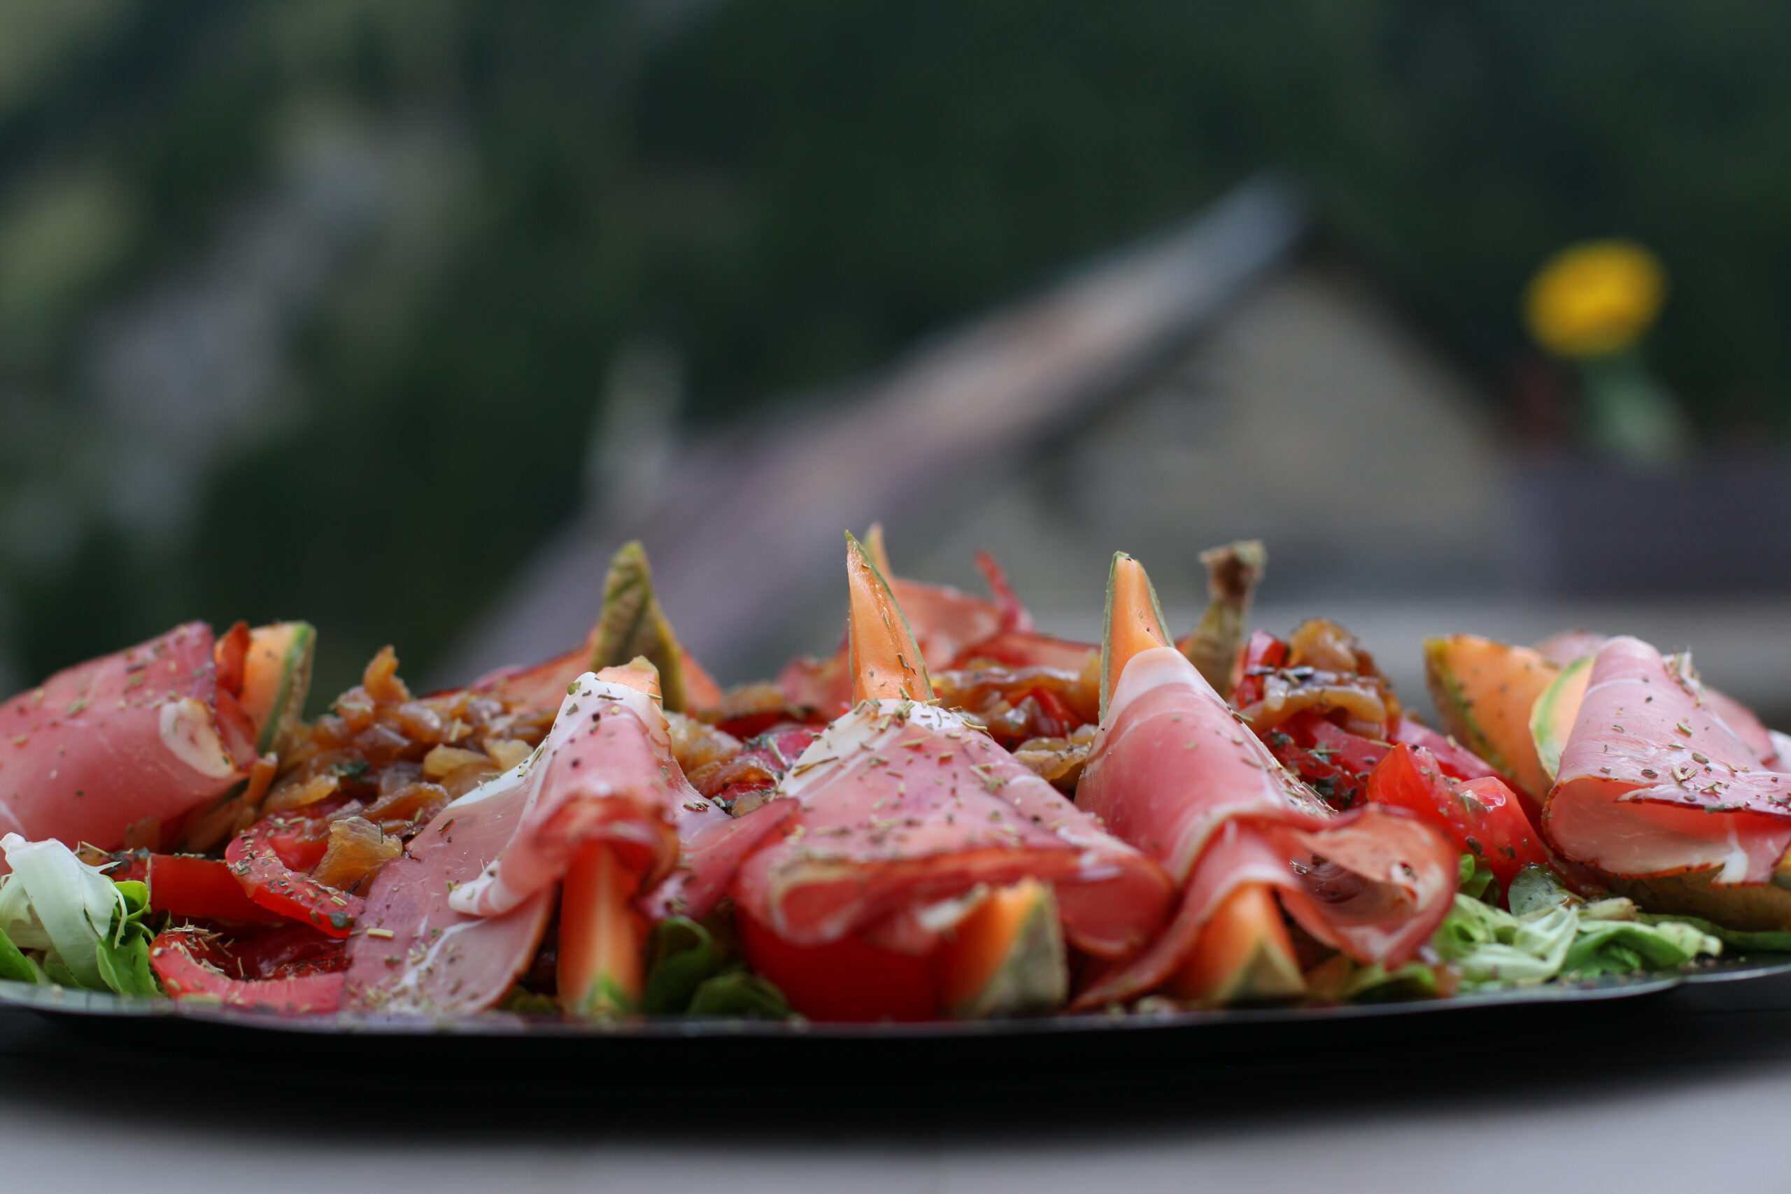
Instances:
[[[741,680],[833,646],[881,517],[1064,634],[1114,548],[1186,623],[1257,535],[1261,621],[1408,686],[1422,634],[1589,625],[1791,714],[1787,36],[0,0],[0,687],[190,618],[460,682],[577,641],[632,535]]]

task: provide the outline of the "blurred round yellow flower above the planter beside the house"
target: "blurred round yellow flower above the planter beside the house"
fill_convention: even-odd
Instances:
[[[1648,331],[1666,299],[1655,254],[1630,240],[1589,240],[1555,254],[1530,281],[1530,335],[1556,356],[1605,356]]]

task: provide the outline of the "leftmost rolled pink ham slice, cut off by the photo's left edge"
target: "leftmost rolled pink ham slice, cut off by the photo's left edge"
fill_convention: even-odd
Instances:
[[[0,705],[0,832],[116,850],[133,823],[174,822],[254,763],[235,712],[220,721],[211,628],[197,621],[59,671]]]

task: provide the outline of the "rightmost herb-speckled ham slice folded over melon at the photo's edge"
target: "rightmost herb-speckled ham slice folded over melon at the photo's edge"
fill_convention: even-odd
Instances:
[[[1542,807],[1549,845],[1614,875],[1771,879],[1791,845],[1791,775],[1764,770],[1709,696],[1646,643],[1605,643]]]

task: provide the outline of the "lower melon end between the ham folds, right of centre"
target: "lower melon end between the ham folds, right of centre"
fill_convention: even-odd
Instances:
[[[1275,891],[1247,883],[1227,895],[1170,977],[1168,992],[1209,1008],[1304,995],[1306,977]]]

